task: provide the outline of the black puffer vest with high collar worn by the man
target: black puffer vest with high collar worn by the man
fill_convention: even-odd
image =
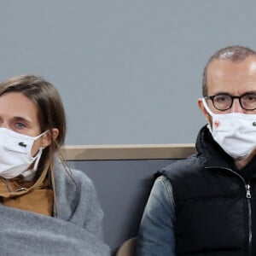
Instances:
[[[249,189],[230,168],[230,157],[213,142],[206,126],[196,148],[198,154],[163,170],[175,201],[177,255],[251,255],[255,179]]]

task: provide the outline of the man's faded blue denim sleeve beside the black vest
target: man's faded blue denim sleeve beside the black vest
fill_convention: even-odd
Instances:
[[[172,185],[158,177],[145,207],[137,240],[137,256],[174,256],[175,236]]]

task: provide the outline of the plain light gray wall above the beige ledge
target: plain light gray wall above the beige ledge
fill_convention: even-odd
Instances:
[[[246,4],[245,4],[246,3]],[[256,49],[256,2],[23,0],[0,5],[0,79],[56,85],[67,144],[194,143],[197,98],[218,48]]]

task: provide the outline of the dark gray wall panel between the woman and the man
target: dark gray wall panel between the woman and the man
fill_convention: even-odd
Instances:
[[[85,172],[96,186],[105,213],[105,240],[114,253],[137,236],[153,174],[172,160],[99,160],[70,162]]]

